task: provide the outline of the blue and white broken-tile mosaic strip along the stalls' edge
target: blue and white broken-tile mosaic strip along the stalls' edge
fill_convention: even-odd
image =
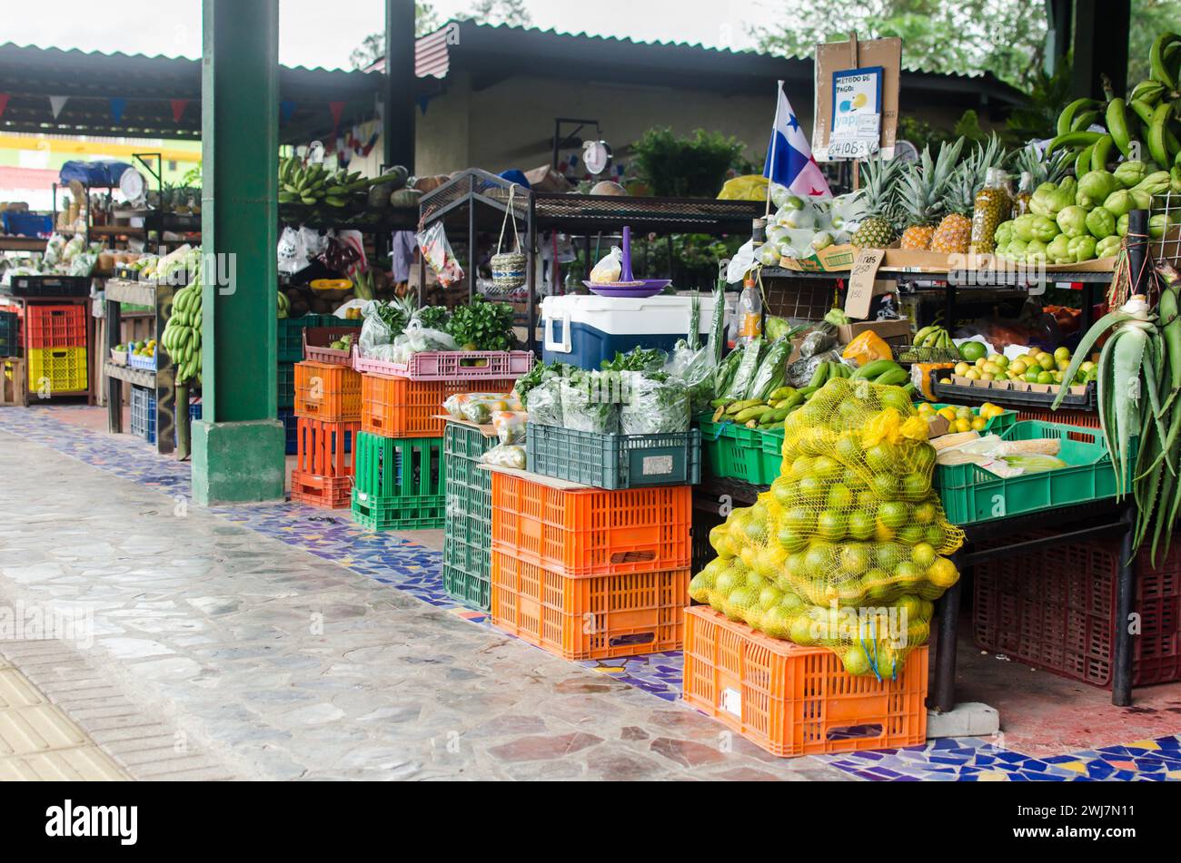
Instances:
[[[21,435],[132,482],[157,489],[188,506],[189,466],[164,457],[129,435],[112,436],[65,423],[53,406],[0,410],[0,430]],[[484,612],[457,605],[443,589],[442,555],[393,534],[358,528],[339,513],[292,503],[218,507],[211,510],[237,526],[278,539],[359,575],[404,591],[478,626]],[[579,665],[627,683],[657,698],[680,697],[679,652]],[[1124,746],[1035,758],[999,740],[959,738],[922,746],[824,756],[822,760],[870,782],[1095,782],[1181,780],[1181,734]]]

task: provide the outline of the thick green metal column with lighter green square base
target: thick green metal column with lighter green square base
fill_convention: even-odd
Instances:
[[[279,0],[202,7],[203,415],[193,429],[193,493],[202,506],[281,500]]]

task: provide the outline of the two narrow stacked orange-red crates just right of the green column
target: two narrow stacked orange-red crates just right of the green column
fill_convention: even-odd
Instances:
[[[348,506],[361,416],[360,375],[347,365],[301,362],[294,369],[295,457],[292,500]]]

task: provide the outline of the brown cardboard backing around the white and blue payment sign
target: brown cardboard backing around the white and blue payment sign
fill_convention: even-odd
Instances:
[[[859,41],[856,37],[841,42],[816,46],[816,103],[813,123],[813,153],[817,160],[829,160],[829,140],[833,138],[834,73],[881,68],[880,147],[883,159],[894,158],[898,134],[898,98],[902,75],[902,40],[873,39]],[[867,120],[868,121],[868,120]]]

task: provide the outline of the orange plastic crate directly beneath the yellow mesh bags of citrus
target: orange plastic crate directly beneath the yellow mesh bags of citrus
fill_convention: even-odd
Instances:
[[[925,646],[896,680],[877,680],[709,606],[685,612],[685,701],[774,756],[914,746],[927,737],[926,697]]]

